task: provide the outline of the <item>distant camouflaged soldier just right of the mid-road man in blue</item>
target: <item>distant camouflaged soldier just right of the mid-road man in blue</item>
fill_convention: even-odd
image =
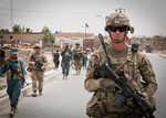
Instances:
[[[80,74],[82,67],[83,51],[79,43],[75,43],[75,47],[73,50],[73,56],[74,56],[74,65],[75,65],[76,74]]]

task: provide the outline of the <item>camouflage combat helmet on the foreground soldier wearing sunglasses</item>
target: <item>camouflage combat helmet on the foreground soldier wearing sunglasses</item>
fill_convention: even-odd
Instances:
[[[127,31],[134,33],[134,28],[131,26],[128,17],[123,12],[115,12],[106,17],[106,25],[104,28],[105,31],[108,31],[110,26],[118,26],[118,25],[126,25]]]

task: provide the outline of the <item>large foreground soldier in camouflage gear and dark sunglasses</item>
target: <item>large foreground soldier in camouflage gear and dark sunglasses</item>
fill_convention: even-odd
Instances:
[[[132,52],[126,45],[128,31],[134,32],[129,19],[123,12],[107,17],[105,31],[112,42],[106,46],[110,61],[115,73],[124,72],[124,81],[136,89],[143,98],[155,107],[154,94],[157,89],[155,73],[149,60],[139,51]],[[115,106],[121,88],[112,79],[98,72],[102,64],[107,63],[103,49],[96,51],[90,58],[84,87],[94,92],[87,103],[86,114],[93,118],[143,118],[138,107],[132,99],[125,99],[121,106]]]

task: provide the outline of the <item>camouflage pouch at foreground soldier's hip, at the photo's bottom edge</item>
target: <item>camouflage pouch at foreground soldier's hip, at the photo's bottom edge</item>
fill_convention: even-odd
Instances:
[[[93,96],[86,106],[86,115],[92,118],[103,118],[106,114],[103,101],[100,101],[96,96]]]

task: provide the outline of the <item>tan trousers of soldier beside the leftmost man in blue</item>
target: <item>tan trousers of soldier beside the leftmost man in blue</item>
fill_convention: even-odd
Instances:
[[[32,71],[31,78],[32,78],[32,89],[33,92],[42,92],[43,90],[43,76],[44,72],[42,71]]]

